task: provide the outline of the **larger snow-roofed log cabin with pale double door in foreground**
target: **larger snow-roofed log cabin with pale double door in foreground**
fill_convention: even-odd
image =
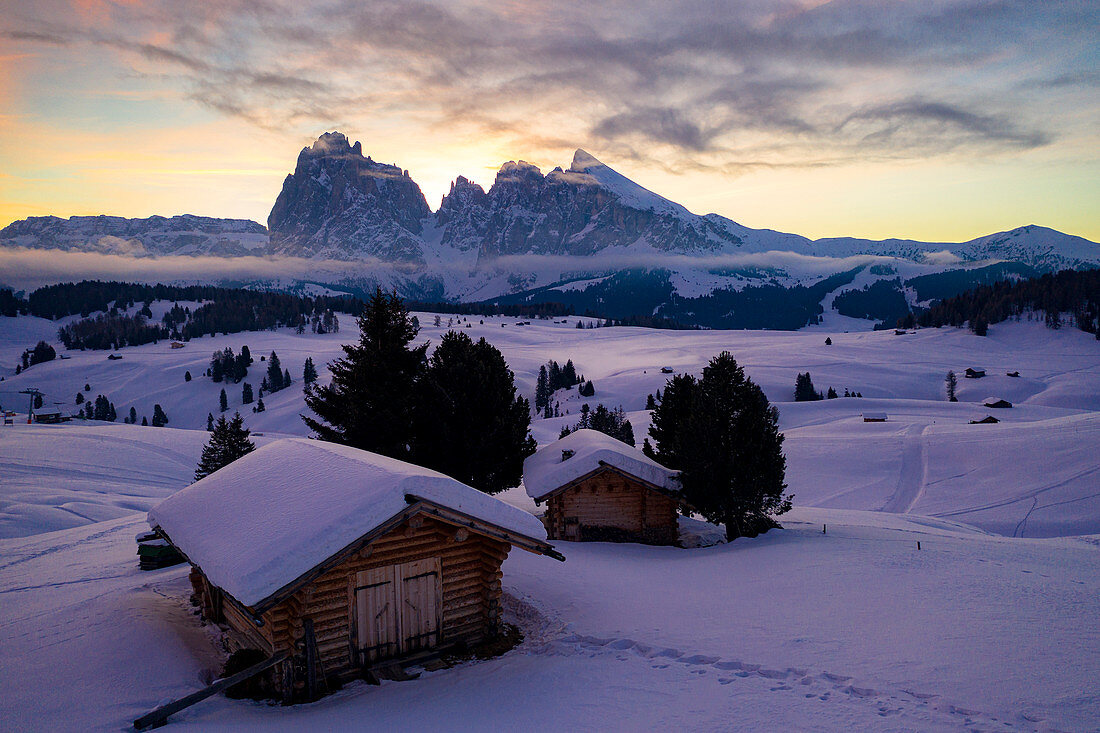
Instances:
[[[527,512],[436,471],[307,439],[249,453],[148,523],[191,564],[202,613],[228,627],[231,647],[290,653],[274,676],[285,697],[309,626],[323,672],[354,677],[495,636],[512,547],[564,559]]]

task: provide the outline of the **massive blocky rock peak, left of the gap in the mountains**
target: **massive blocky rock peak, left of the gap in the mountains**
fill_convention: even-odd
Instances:
[[[329,132],[298,155],[267,228],[276,254],[419,262],[430,215],[408,172],[363,157],[360,143]]]

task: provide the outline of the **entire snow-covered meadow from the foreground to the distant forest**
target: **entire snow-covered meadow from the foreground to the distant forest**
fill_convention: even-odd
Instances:
[[[153,304],[154,314],[167,305]],[[647,395],[670,376],[662,368],[697,374],[730,351],[779,407],[794,495],[794,510],[779,517],[784,528],[713,544],[719,528],[684,517],[682,539],[701,547],[558,543],[564,564],[514,551],[505,619],[524,641],[503,656],[409,682],[353,682],[290,708],[216,697],[170,725],[1094,727],[1100,351],[1091,333],[1027,320],[978,337],[847,332],[828,322],[790,332],[585,329],[576,321],[591,319],[575,316],[520,325],[443,314],[436,326],[433,314],[416,315],[416,342],[436,344],[449,328],[484,336],[528,397],[542,364],[573,361],[595,394],[556,393],[560,416],[532,420],[540,446],[575,424],[585,402],[622,405],[640,445]],[[191,483],[221,389],[228,414],[241,411],[254,431],[251,460],[260,459],[274,440],[308,435],[299,418],[305,360],[324,383],[324,365],[356,337],[345,322],[339,333],[242,332],[177,349],[162,341],[108,360],[106,351],[64,351],[56,329],[65,322],[0,319],[0,402],[23,415],[0,430],[7,730],[119,730],[220,674],[219,632],[193,614],[186,566],[139,570],[134,536],[147,528],[147,510]],[[38,340],[68,358],[14,375]],[[255,361],[244,381],[258,384],[260,355],[273,351],[293,380],[264,394],[262,413],[242,404],[243,382],[205,375],[212,352],[245,344]],[[964,379],[968,366],[987,376]],[[862,397],[796,403],[795,378],[806,371],[822,392]],[[959,374],[956,403],[944,392],[948,371]],[[168,426],[26,425],[19,392],[30,387],[65,413],[76,411],[78,392],[102,394],[120,420],[131,406],[140,422],[160,404]],[[983,407],[991,396],[1013,407]],[[887,422],[864,422],[871,413]],[[999,423],[970,424],[991,413]],[[262,512],[263,486],[250,492]],[[537,514],[528,493],[517,486],[501,497]]]

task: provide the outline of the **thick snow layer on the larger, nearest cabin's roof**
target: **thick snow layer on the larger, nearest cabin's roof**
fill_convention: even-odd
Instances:
[[[408,495],[546,541],[534,515],[455,479],[305,438],[271,442],[176,492],[148,523],[253,606],[400,513]]]

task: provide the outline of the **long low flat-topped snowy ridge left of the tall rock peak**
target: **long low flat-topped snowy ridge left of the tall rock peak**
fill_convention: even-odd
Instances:
[[[131,256],[240,256],[262,253],[267,230],[248,219],[177,217],[30,217],[0,230],[0,244]]]

